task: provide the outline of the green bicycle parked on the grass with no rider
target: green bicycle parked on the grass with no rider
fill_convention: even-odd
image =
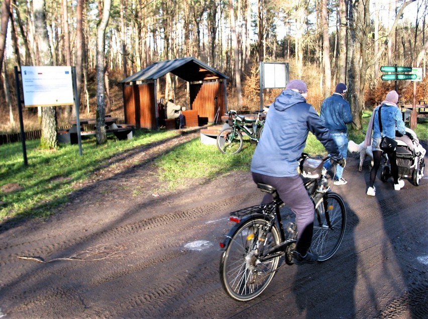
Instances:
[[[217,136],[217,147],[222,153],[239,153],[244,144],[244,136],[248,136],[250,141],[259,141],[264,126],[263,110],[255,111],[254,114],[257,114],[255,119],[238,115],[235,110],[226,113],[230,127],[223,129]]]

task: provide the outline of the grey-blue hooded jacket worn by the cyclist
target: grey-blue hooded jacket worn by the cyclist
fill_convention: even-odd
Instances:
[[[343,156],[312,105],[298,92],[283,90],[269,107],[251,172],[273,177],[298,175],[298,159],[311,131],[335,161]]]

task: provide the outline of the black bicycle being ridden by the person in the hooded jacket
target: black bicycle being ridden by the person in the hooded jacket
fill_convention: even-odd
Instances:
[[[310,251],[318,261],[330,259],[339,249],[345,225],[346,209],[342,198],[328,186],[325,161],[330,157],[314,158],[303,153],[301,175],[315,207]],[[295,223],[282,225],[280,208],[284,203],[276,189],[257,184],[262,192],[272,194],[273,201],[232,212],[230,220],[236,225],[229,231],[220,247],[220,278],[226,292],[239,301],[251,300],[268,286],[284,257],[292,265],[297,229]]]

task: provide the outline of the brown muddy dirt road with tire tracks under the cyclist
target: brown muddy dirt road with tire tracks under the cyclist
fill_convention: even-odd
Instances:
[[[428,317],[428,173],[400,191],[377,180],[369,197],[369,163],[360,173],[351,156],[349,183],[332,186],[348,212],[338,253],[283,266],[260,297],[243,303],[221,287],[219,242],[229,213],[262,198],[250,174],[168,194],[158,192],[150,165],[195,136],[112,158],[45,221],[0,225],[0,317]]]

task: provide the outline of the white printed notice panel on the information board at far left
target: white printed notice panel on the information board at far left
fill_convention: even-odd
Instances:
[[[21,77],[26,107],[74,104],[71,67],[23,66]]]

